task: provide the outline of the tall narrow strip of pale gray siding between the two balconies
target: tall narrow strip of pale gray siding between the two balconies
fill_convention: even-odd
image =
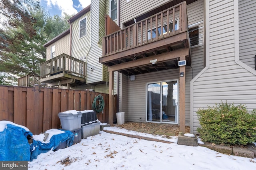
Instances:
[[[102,18],[105,18],[105,13],[100,8],[105,7],[99,7],[100,4],[104,4],[103,0],[92,1],[91,3],[91,47],[87,57],[86,84],[102,82],[104,76],[103,65],[99,63],[99,58],[102,57],[102,45],[99,43],[99,39],[105,29],[100,27],[99,23]]]

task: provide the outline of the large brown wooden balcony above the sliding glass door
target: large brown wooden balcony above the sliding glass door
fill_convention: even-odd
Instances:
[[[126,75],[178,68],[180,56],[190,65],[188,39],[185,1],[105,36],[99,62]]]

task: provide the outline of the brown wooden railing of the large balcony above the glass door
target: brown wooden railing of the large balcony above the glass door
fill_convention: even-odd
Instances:
[[[188,21],[185,1],[104,37],[103,57],[187,30]]]

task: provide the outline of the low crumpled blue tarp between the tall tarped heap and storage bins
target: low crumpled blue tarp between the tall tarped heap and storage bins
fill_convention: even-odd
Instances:
[[[30,145],[31,150],[31,159],[36,159],[37,156],[41,153],[46,153],[49,150],[55,150],[59,145],[65,143],[66,147],[70,147],[73,145],[74,134],[71,131],[66,131],[63,129],[59,129],[65,131],[65,133],[60,133],[58,135],[53,135],[50,139],[49,143],[42,143],[41,141],[33,141]]]

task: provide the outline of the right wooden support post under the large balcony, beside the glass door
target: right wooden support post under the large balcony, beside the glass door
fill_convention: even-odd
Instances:
[[[185,60],[186,56],[180,57],[181,60]],[[180,76],[180,95],[179,95],[179,114],[180,114],[180,132],[185,133],[185,80],[186,80],[186,66],[180,66],[180,73],[183,72],[183,77]]]

